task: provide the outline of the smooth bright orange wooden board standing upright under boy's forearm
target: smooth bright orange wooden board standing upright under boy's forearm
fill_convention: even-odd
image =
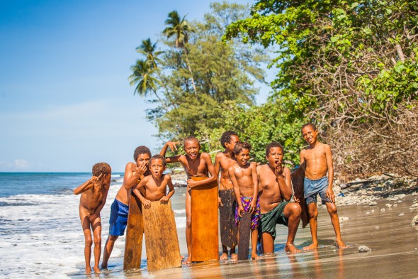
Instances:
[[[191,261],[217,260],[218,241],[218,181],[214,181],[191,190]]]

